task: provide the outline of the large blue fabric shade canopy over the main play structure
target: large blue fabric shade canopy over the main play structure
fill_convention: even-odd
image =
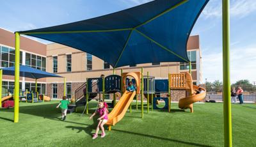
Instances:
[[[188,62],[188,38],[208,1],[156,0],[93,19],[19,33],[88,52],[114,68]]]

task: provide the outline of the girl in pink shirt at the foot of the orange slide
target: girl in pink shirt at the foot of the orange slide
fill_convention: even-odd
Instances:
[[[95,116],[96,113],[99,113],[100,117],[97,119],[99,120],[99,123],[96,128],[95,134],[93,134],[92,139],[95,139],[98,137],[100,128],[102,130],[101,137],[103,138],[106,135],[104,130],[104,125],[108,122],[108,104],[106,104],[106,102],[99,102],[98,109],[92,114],[92,116],[90,117],[90,120],[93,118],[93,116]]]

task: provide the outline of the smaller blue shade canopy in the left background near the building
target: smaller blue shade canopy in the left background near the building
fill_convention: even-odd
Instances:
[[[3,75],[15,75],[15,67],[1,68]],[[44,77],[61,77],[60,75],[51,74],[42,70],[37,70],[29,66],[20,65],[20,77],[29,77],[32,79],[40,79]]]

